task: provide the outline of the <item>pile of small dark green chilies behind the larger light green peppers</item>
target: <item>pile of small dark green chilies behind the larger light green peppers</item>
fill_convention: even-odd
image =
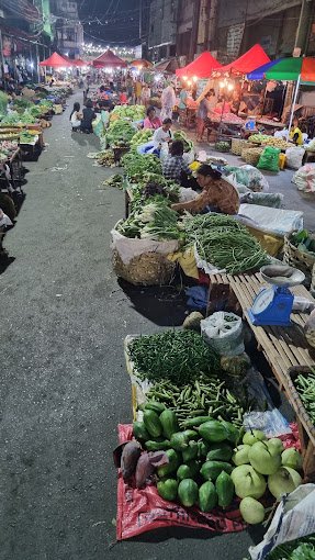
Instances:
[[[201,373],[220,370],[220,357],[193,331],[165,331],[135,338],[130,345],[131,359],[142,379],[169,381],[184,385]]]

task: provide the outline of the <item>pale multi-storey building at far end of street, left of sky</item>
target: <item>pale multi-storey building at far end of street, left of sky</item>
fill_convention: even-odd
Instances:
[[[78,14],[78,4],[74,1],[52,0],[52,10],[56,16],[56,48],[70,58],[80,58],[83,46],[83,26]]]

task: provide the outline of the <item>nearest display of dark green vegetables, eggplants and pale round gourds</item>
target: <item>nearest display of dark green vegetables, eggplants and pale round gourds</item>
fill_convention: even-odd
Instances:
[[[137,488],[156,484],[164,500],[188,508],[239,507],[244,520],[255,525],[265,518],[267,489],[280,500],[302,482],[301,456],[284,450],[281,439],[267,439],[260,430],[243,435],[232,423],[209,416],[180,430],[175,412],[155,401],[145,404],[133,435],[128,457],[121,461],[125,482],[135,474]],[[143,472],[150,453],[157,453],[159,463]]]

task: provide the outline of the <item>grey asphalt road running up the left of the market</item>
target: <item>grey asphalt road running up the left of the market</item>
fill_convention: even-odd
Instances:
[[[71,135],[68,109],[45,139],[0,276],[0,558],[241,560],[259,531],[115,544],[112,449],[132,419],[123,339],[180,324],[183,306],[176,288],[119,285],[110,229],[124,199],[100,188],[112,170],[87,158],[97,138]]]

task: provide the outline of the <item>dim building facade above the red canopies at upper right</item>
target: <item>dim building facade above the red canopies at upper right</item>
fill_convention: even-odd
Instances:
[[[151,0],[149,54],[177,56],[181,66],[203,51],[228,63],[256,43],[270,58],[315,55],[314,7],[314,0]]]

